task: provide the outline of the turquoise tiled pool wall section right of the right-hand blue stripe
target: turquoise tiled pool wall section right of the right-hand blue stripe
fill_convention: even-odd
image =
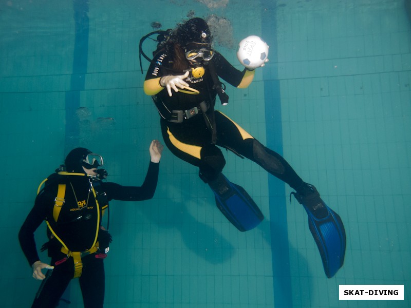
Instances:
[[[288,207],[297,248],[290,249],[292,288],[301,290],[293,306],[391,307],[339,301],[338,284],[409,289],[411,41],[403,2],[284,2],[277,25],[284,155],[347,231],[345,265],[324,280],[306,215],[295,201]]]

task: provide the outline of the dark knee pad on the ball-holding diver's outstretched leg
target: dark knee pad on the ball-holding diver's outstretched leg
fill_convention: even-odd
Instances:
[[[276,152],[265,147],[258,140],[253,139],[254,161],[272,174],[282,175],[285,166],[282,164],[283,158]]]

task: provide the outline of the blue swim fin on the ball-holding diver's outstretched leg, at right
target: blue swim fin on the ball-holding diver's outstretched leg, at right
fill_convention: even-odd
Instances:
[[[344,264],[346,236],[340,216],[320,198],[317,189],[305,183],[309,193],[292,192],[308,214],[308,226],[320,251],[325,275],[333,277]]]

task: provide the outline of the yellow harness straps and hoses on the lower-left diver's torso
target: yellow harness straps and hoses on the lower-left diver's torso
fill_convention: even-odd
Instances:
[[[84,174],[81,173],[72,173],[72,172],[66,172],[66,171],[60,171],[58,172],[59,175],[62,176],[85,176]],[[38,188],[38,194],[41,190],[41,186],[43,185],[43,183],[45,183],[48,179],[45,179],[43,182],[40,183],[39,188]],[[93,196],[96,200],[96,206],[97,206],[97,223],[96,223],[96,236],[94,238],[94,242],[92,243],[91,247],[86,249],[85,251],[82,252],[73,252],[71,251],[67,245],[63,242],[63,240],[55,233],[54,229],[52,228],[51,224],[49,221],[46,220],[46,224],[51,232],[51,234],[62,244],[62,247],[60,249],[60,251],[66,255],[65,258],[55,262],[55,265],[59,265],[65,261],[67,261],[68,258],[72,257],[73,258],[73,262],[74,262],[74,276],[73,278],[78,278],[81,276],[82,274],[82,270],[83,270],[83,263],[81,261],[82,257],[85,257],[87,255],[90,254],[94,254],[96,252],[100,251],[100,244],[97,241],[99,232],[100,230],[100,205],[99,205],[99,201],[98,199],[100,199],[101,201],[104,201],[103,203],[106,203],[105,205],[103,205],[101,207],[101,214],[104,215],[104,211],[107,209],[108,210],[108,202],[106,197],[105,197],[105,192],[102,193],[102,195],[100,196],[101,198],[99,198],[97,196],[96,190],[94,188],[94,186],[92,185],[91,179],[90,180],[90,189],[93,193]],[[54,198],[54,206],[53,206],[53,220],[54,222],[57,223],[59,216],[60,216],[60,211],[65,203],[65,194],[66,194],[66,184],[58,184],[58,190],[57,190],[57,196]],[[100,192],[98,192],[98,194],[101,194]],[[104,199],[103,199],[104,198]],[[96,254],[95,256],[96,258],[99,259],[104,259],[105,257],[107,257],[107,255],[105,254],[105,252],[103,251],[102,253]]]

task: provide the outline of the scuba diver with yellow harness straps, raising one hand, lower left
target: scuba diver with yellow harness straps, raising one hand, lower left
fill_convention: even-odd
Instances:
[[[111,236],[102,226],[108,201],[142,201],[153,198],[163,146],[150,144],[150,164],[141,187],[103,182],[108,174],[103,158],[86,148],[71,150],[59,169],[44,180],[18,239],[32,267],[33,278],[43,280],[32,307],[55,307],[73,278],[79,278],[84,307],[103,307],[104,265]],[[42,184],[44,183],[44,187]],[[109,216],[109,215],[108,215]],[[50,264],[43,263],[36,249],[34,232],[46,221]],[[47,269],[44,274],[42,269]]]

